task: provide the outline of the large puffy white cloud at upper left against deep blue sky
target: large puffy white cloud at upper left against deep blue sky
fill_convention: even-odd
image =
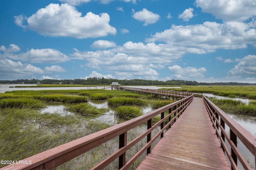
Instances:
[[[22,19],[27,21],[27,26],[22,25]],[[69,4],[49,4],[28,18],[17,16],[15,23],[45,36],[83,39],[115,35],[116,28],[109,25],[109,21],[107,13],[96,15],[88,12],[82,16],[81,12]]]

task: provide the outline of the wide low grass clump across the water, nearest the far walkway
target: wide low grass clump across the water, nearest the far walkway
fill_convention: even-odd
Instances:
[[[140,98],[117,97],[108,99],[108,105],[112,107],[118,106],[146,106],[147,102]]]

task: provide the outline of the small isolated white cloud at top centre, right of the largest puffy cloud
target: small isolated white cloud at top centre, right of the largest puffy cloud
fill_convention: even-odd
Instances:
[[[143,8],[142,11],[138,12],[135,12],[134,9],[132,9],[132,12],[134,13],[132,18],[144,22],[144,26],[156,23],[160,19],[160,15],[148,11],[146,8]]]

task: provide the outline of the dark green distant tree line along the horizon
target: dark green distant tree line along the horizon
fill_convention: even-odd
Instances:
[[[87,78],[84,79],[74,79],[74,80],[52,80],[52,79],[19,79],[19,80],[0,80],[0,84],[54,84],[54,83],[62,83],[62,84],[82,84],[82,85],[109,85],[112,82],[118,82],[121,85],[140,85],[140,86],[180,86],[180,85],[229,85],[229,86],[248,86],[248,85],[256,85],[256,83],[238,83],[238,82],[215,82],[215,83],[206,83],[206,82],[196,82],[196,81],[187,81],[187,80],[167,80],[167,81],[159,81],[159,80],[142,80],[142,79],[132,79],[132,80],[118,80],[112,78]]]

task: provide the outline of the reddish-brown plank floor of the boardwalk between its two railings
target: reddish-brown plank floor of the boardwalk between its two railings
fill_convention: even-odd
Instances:
[[[194,98],[137,170],[230,170],[202,98]]]

